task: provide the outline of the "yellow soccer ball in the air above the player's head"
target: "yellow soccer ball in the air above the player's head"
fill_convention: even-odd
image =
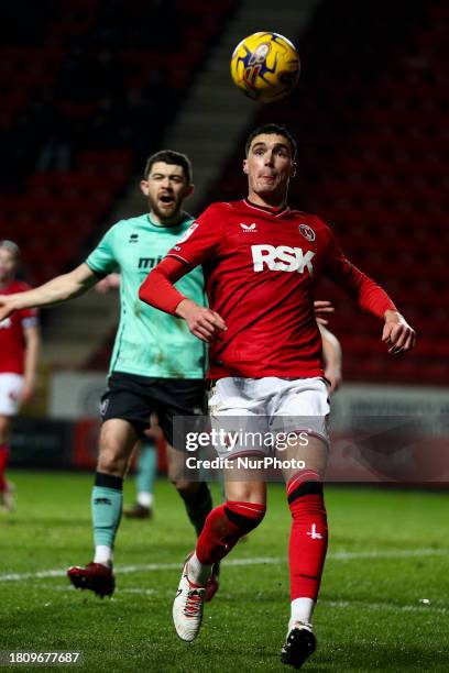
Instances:
[[[292,91],[299,77],[295,46],[278,33],[253,33],[232,54],[231,77],[252,100],[274,102]]]

